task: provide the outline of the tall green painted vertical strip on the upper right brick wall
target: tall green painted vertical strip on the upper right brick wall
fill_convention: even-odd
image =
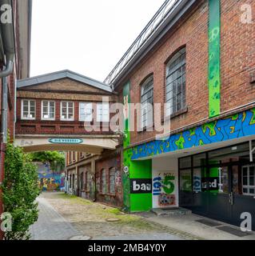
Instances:
[[[209,118],[221,114],[221,0],[209,0]]]

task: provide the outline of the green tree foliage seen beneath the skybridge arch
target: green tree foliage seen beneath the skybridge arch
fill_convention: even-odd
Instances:
[[[65,168],[65,154],[58,151],[44,151],[30,154],[30,158],[34,162],[50,162],[50,169],[57,171],[58,168]]]

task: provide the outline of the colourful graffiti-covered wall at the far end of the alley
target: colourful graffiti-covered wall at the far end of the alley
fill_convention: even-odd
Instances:
[[[65,190],[65,172],[55,173],[48,163],[35,162],[38,166],[38,186],[42,191]]]

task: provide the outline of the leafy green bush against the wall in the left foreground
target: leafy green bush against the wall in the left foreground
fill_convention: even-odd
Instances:
[[[12,216],[12,231],[6,231],[6,240],[30,238],[29,227],[38,219],[38,203],[35,199],[39,194],[36,166],[21,148],[8,142],[2,199],[4,211]]]

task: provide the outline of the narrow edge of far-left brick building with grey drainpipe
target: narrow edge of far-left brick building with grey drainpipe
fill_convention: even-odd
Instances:
[[[30,74],[30,30],[32,1],[0,1],[0,184],[4,178],[4,159],[7,133],[14,139],[16,80]],[[1,21],[2,19],[1,16]],[[2,205],[0,191],[0,215]],[[0,240],[2,233],[0,231]]]

